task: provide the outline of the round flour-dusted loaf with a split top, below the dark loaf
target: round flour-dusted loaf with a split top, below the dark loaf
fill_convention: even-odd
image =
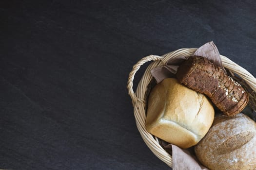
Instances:
[[[195,152],[211,170],[255,170],[256,123],[241,113],[219,116]]]

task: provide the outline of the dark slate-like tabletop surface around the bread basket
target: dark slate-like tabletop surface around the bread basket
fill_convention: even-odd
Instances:
[[[171,170],[136,128],[132,66],[213,40],[256,76],[255,11],[253,0],[1,0],[0,168]]]

